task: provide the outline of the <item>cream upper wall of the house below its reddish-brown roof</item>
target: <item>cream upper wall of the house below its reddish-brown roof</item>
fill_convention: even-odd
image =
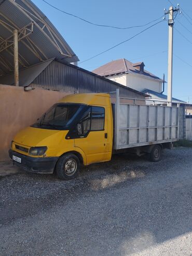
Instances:
[[[149,89],[155,92],[162,91],[161,82],[156,81],[154,79],[145,78],[139,75],[124,74],[118,76],[111,76],[107,78],[140,92],[144,89]]]

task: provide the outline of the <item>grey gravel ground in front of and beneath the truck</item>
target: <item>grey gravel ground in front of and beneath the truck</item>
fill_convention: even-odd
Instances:
[[[192,149],[0,180],[0,255],[191,255]]]

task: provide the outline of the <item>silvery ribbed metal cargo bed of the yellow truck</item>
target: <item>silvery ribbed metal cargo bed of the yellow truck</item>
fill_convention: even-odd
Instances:
[[[121,98],[117,90],[113,105],[115,150],[178,140],[179,105],[136,105],[120,103]]]

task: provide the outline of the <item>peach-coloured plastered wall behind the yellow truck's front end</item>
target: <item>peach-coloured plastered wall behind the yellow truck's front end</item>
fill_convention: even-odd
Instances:
[[[0,85],[0,161],[8,159],[10,142],[16,133],[32,125],[66,94],[40,88],[25,92],[23,87]]]

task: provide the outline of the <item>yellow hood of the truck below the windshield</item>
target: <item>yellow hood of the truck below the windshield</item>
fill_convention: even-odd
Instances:
[[[28,147],[53,146],[60,143],[61,140],[64,141],[67,132],[66,130],[26,127],[17,133],[13,141]]]

